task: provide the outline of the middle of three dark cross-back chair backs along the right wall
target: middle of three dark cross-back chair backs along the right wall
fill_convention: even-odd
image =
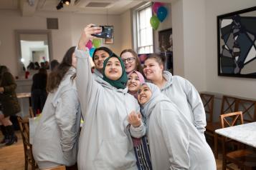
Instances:
[[[220,114],[227,114],[236,111],[237,98],[232,96],[222,96],[222,108]]]

